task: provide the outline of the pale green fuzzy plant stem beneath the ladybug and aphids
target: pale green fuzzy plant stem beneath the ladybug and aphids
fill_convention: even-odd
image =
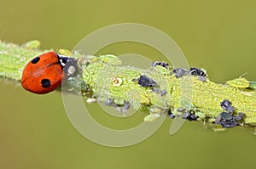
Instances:
[[[29,48],[27,45],[20,47],[13,43],[0,42],[0,78],[20,82],[20,76],[26,63],[34,56],[44,52],[37,48]],[[192,85],[191,109],[195,112],[200,112],[206,118],[215,120],[223,111],[220,102],[228,99],[236,108],[236,113],[244,112],[246,114],[244,124],[256,124],[256,93],[254,90],[236,88],[228,84],[217,84],[209,79],[207,82],[202,82],[198,76],[175,78],[170,76],[169,72],[161,72],[154,68],[144,70],[124,66],[119,65],[119,62],[111,64],[107,61],[106,63],[106,58],[95,56],[90,56],[90,58],[87,56],[78,60],[83,71],[82,80],[92,89],[94,96],[102,101],[111,98],[116,104],[124,104],[125,101],[129,101],[135,109],[146,108],[157,112],[155,108],[171,108],[173,111],[183,105],[181,104],[183,93],[186,93],[186,90]],[[88,60],[90,60],[89,64]],[[160,90],[166,89],[167,94],[161,96],[158,93],[153,93],[150,87],[138,85],[134,79],[140,75],[154,79]],[[122,79],[121,84],[113,85],[114,80],[117,79]],[[72,85],[75,86],[75,84]],[[188,88],[184,89],[181,86],[188,86]]]

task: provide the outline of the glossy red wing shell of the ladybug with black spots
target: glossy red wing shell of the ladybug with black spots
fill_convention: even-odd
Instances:
[[[24,68],[21,85],[32,93],[49,93],[61,86],[65,73],[55,52],[41,54]]]

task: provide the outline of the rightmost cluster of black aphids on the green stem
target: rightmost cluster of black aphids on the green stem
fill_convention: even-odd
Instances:
[[[224,109],[227,112],[221,112],[216,118],[215,123],[220,124],[222,127],[230,128],[230,127],[236,127],[240,124],[242,121],[244,113],[237,113],[235,114],[235,109],[232,106],[231,102],[227,99],[224,99],[222,102],[220,102],[220,106],[222,109]]]

